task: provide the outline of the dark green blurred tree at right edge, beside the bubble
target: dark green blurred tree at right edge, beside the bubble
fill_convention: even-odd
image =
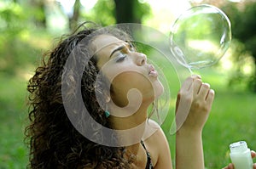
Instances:
[[[238,64],[233,78],[247,80],[249,89],[256,92],[256,2],[229,3],[223,6],[223,10],[229,15],[233,38],[242,43],[240,52],[238,52],[239,55],[235,54]],[[247,55],[253,57],[254,65],[253,72],[249,77],[241,73],[242,66],[247,64],[241,64],[241,62],[247,59]]]

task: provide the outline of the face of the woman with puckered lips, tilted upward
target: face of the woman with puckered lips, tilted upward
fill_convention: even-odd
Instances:
[[[128,99],[137,100],[138,97],[150,104],[163,92],[154,66],[149,65],[147,56],[137,53],[130,43],[111,35],[100,35],[93,40],[92,46],[99,70],[111,83],[110,97],[118,106],[124,107]]]

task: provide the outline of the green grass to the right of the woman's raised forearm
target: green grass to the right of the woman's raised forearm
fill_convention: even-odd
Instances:
[[[206,166],[221,168],[229,159],[229,144],[245,140],[256,149],[256,94],[217,92],[203,132]]]

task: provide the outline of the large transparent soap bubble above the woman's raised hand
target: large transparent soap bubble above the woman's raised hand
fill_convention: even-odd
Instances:
[[[216,64],[230,41],[230,20],[211,5],[196,6],[181,14],[170,34],[172,54],[189,70]]]

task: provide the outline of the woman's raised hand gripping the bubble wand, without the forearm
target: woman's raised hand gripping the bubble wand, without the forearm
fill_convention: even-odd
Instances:
[[[201,131],[212,108],[214,91],[200,76],[190,76],[177,94],[177,130]]]

